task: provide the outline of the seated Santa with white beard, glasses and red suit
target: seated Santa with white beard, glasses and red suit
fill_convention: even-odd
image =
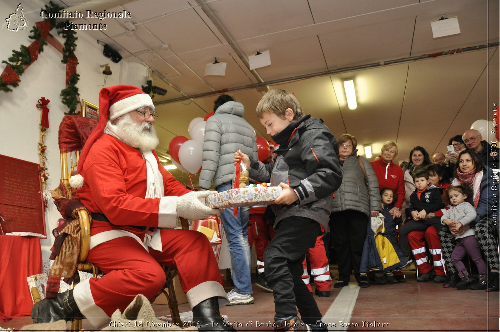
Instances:
[[[76,197],[91,212],[87,260],[104,275],[79,282],[56,298],[35,303],[34,322],[83,314],[94,327],[123,311],[137,294],[154,298],[163,288],[162,266],[176,267],[200,330],[229,331],[219,314],[227,303],[217,261],[203,233],[166,229],[177,217],[218,214],[204,204],[212,191],[190,191],[159,163],[151,97],[131,85],[104,87],[100,119],[70,178]],[[162,229],[159,229],[161,227]]]

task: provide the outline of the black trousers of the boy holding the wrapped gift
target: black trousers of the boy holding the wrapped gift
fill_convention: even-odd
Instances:
[[[290,216],[279,222],[276,235],[264,251],[265,276],[274,290],[275,319],[297,316],[313,324],[321,319],[314,297],[302,281],[302,261],[320,234],[319,223],[313,219]]]

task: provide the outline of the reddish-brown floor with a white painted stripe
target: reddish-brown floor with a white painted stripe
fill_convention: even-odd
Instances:
[[[336,269],[331,271],[336,274]],[[432,281],[416,282],[414,272],[406,271],[405,275],[406,282],[372,284],[369,288],[358,288],[351,279],[349,286],[332,287],[330,297],[314,296],[324,315],[323,321],[329,324],[329,330],[499,330],[500,293],[446,289]],[[226,306],[220,310],[236,330],[267,330],[269,328],[263,326],[263,322],[273,320],[272,293],[258,287],[253,290],[254,304]],[[348,308],[352,308],[350,318],[341,316],[343,314],[339,312],[346,312]],[[153,304],[153,309],[157,316],[169,313],[167,305]],[[179,310],[188,311],[190,308],[185,303],[179,305]],[[19,328],[31,322],[29,317],[14,318],[2,323],[1,327]],[[347,324],[350,327],[346,327]],[[82,327],[93,329],[85,319]]]

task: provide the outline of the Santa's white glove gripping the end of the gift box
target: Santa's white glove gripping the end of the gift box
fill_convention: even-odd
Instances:
[[[177,197],[177,216],[190,220],[202,220],[210,215],[219,214],[218,208],[205,205],[205,197],[217,191],[190,191]]]

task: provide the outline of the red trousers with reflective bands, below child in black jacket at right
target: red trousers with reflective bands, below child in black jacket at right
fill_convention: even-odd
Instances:
[[[433,267],[430,265],[427,257],[425,242],[427,242],[429,252],[432,255]],[[444,264],[444,258],[441,253],[441,241],[439,240],[439,234],[437,234],[435,227],[430,226],[425,230],[414,230],[409,232],[408,244],[416,260],[418,273],[427,273],[433,268],[436,275],[446,275],[446,264]]]

